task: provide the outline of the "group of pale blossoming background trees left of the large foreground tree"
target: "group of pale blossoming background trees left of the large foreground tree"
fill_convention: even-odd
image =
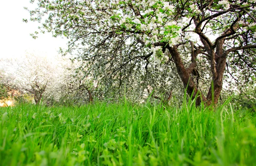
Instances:
[[[46,57],[26,53],[20,59],[6,59],[0,63],[1,98],[13,96],[18,89],[22,100],[29,94],[35,104],[81,105],[99,98],[98,81],[85,76],[79,62],[69,58]],[[15,88],[15,89],[14,89]],[[0,98],[0,99],[1,99]],[[26,100],[25,100],[26,101]]]

